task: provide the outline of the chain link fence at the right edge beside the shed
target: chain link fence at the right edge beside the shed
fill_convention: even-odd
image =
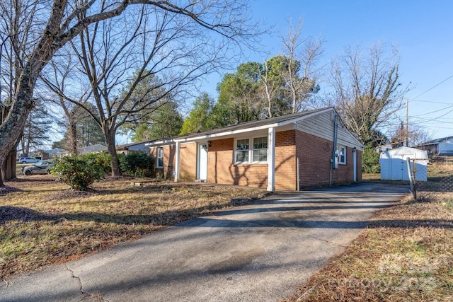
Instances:
[[[428,165],[416,165],[418,160],[411,160],[411,171],[417,199],[430,199],[435,194],[453,192],[453,156],[433,156]],[[420,174],[417,170],[420,170]],[[425,169],[425,170],[423,170]],[[417,179],[418,175],[428,174],[427,181]]]

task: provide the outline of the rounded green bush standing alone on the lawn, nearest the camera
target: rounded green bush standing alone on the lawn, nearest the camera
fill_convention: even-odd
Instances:
[[[56,161],[52,174],[72,189],[86,191],[93,182],[104,178],[106,158],[103,153],[65,156]]]

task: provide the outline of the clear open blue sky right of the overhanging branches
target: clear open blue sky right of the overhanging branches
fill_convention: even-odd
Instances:
[[[304,18],[302,35],[321,35],[326,41],[324,64],[347,45],[396,45],[401,83],[411,87],[406,94],[410,123],[425,127],[432,139],[453,136],[453,1],[256,0],[251,8],[253,18],[265,20],[279,33],[287,31],[287,19],[296,23]],[[276,34],[261,43],[267,57],[281,53]],[[265,57],[250,53],[244,62],[263,62]],[[210,77],[205,90],[215,96],[218,81]]]

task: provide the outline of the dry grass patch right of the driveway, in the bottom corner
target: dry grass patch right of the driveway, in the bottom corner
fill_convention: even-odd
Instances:
[[[453,301],[453,193],[381,211],[285,301]]]

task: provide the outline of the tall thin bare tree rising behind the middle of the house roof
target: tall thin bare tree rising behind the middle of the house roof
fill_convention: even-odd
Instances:
[[[287,58],[284,79],[292,100],[292,113],[304,110],[306,100],[319,90],[316,79],[321,69],[316,67],[316,63],[323,54],[323,40],[302,38],[303,25],[302,20],[295,27],[289,21],[287,35],[280,37]]]

